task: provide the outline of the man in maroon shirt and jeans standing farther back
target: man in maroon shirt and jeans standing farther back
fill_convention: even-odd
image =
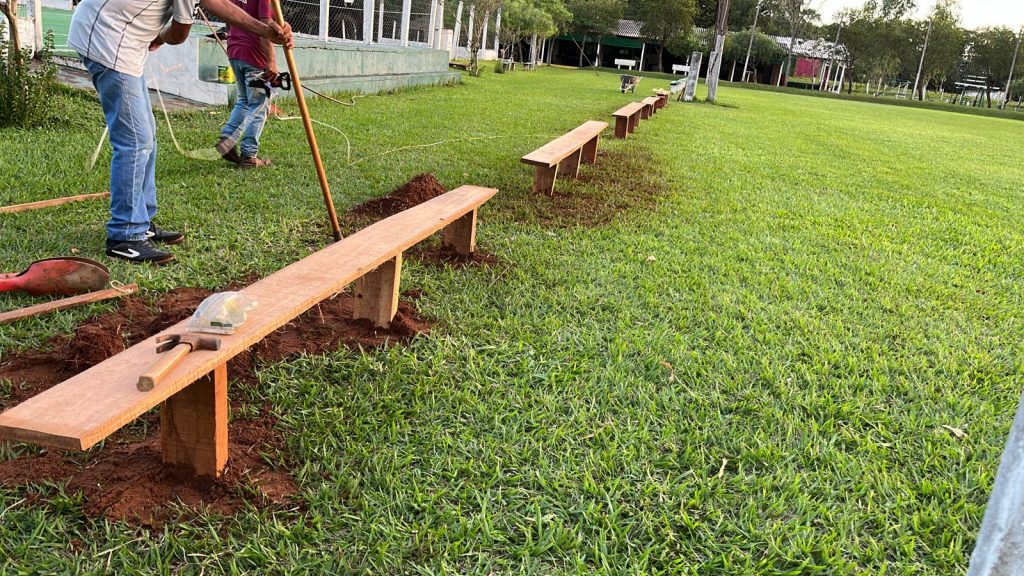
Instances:
[[[273,22],[273,11],[269,0],[231,0],[246,13],[262,23]],[[262,168],[270,161],[259,158],[259,137],[266,124],[270,98],[262,87],[262,80],[278,74],[273,45],[266,39],[239,27],[230,27],[227,32],[227,58],[234,71],[238,97],[227,123],[220,130],[217,151],[221,156],[239,165],[239,168]],[[251,86],[257,80],[259,87]],[[241,136],[241,140],[239,137]],[[239,150],[234,150],[236,142]]]

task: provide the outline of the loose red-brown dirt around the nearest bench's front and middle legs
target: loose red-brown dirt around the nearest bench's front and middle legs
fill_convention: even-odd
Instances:
[[[155,302],[139,296],[125,298],[117,310],[78,326],[74,335],[52,339],[48,351],[0,359],[0,381],[10,384],[7,390],[0,388],[0,409],[14,406],[184,320],[210,293],[206,289],[180,288]],[[236,381],[233,407],[243,411],[246,395],[244,390],[238,394],[237,384],[255,384],[261,363],[342,346],[354,349],[393,345],[428,332],[431,324],[408,301],[418,296],[418,292],[409,293],[399,302],[398,314],[386,330],[366,320],[352,320],[350,294],[323,301],[230,361],[228,377]],[[229,464],[223,478],[216,481],[188,480],[181,470],[161,462],[159,414],[152,411],[92,453],[26,449],[35,450],[37,455],[0,462],[0,484],[67,481],[70,491],[84,494],[86,513],[142,526],[160,526],[200,508],[230,515],[247,504],[288,504],[297,492],[294,481],[287,470],[268,465],[262,457],[267,452],[280,452],[284,443],[273,427],[268,407],[257,412],[260,416],[255,419],[230,424]],[[184,507],[176,506],[177,502]]]

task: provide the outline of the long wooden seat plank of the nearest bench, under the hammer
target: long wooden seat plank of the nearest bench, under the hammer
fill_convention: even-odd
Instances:
[[[88,449],[497,192],[464,186],[314,252],[244,288],[258,302],[249,321],[234,334],[220,336],[219,351],[186,356],[152,390],[139,392],[136,382],[157,360],[156,338],[183,333],[187,320],[0,414],[0,438]]]

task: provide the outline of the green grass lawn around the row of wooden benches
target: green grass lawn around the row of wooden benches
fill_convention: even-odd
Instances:
[[[604,138],[652,159],[618,184],[558,184],[656,204],[546,220],[518,158],[632,97],[614,74],[541,70],[312,100],[365,159],[319,130],[340,211],[422,171],[499,188],[478,234],[503,263],[410,262],[428,336],[266,367],[305,512],[151,532],[56,486],[0,489],[0,572],[963,573],[1024,383],[1020,124],[726,86]],[[0,131],[0,204],[105,190],[109,152],[83,168],[98,105],[77,106],[74,125]],[[225,116],[174,128],[209,147]],[[159,140],[159,219],[189,240],[171,266],[110,262],[118,280],[217,287],[330,240],[300,123],[271,121],[258,173],[182,157],[163,122]],[[0,261],[103,259],[104,219],[102,202],[0,216]],[[0,326],[0,351],[106,305]]]

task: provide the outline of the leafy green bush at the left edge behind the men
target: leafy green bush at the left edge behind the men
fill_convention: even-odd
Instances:
[[[34,60],[29,50],[15,57],[10,44],[0,41],[0,128],[35,128],[62,116],[63,100],[53,97],[62,90],[52,49],[52,33]]]

